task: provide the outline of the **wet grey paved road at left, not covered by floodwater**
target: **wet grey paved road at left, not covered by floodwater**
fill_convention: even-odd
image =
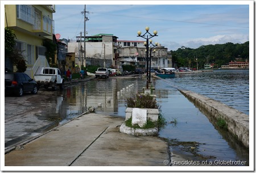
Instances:
[[[77,82],[86,82],[94,77],[82,80],[65,82],[65,86],[75,85]],[[38,136],[49,129],[59,125],[56,121],[59,116],[45,116],[44,112],[57,112],[57,105],[49,102],[56,98],[57,91],[52,92],[40,88],[38,94],[25,93],[22,97],[12,95],[5,96],[5,150],[11,150],[21,142]],[[49,110],[49,109],[55,110]]]

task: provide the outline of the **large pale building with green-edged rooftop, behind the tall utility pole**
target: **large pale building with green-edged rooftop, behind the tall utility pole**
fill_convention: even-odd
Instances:
[[[69,40],[68,52],[75,52],[76,64],[79,66],[117,67],[117,38],[106,33],[86,36],[84,49],[84,36],[77,36],[76,41]]]

